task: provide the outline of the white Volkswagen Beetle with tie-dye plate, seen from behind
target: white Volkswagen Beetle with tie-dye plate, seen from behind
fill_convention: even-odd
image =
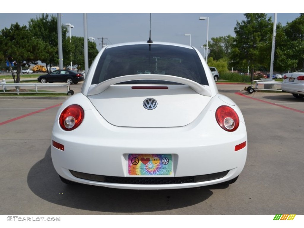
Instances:
[[[138,74],[147,70],[155,73]],[[147,190],[231,184],[245,165],[247,132],[197,49],[123,43],[100,51],[81,93],[58,110],[51,155],[66,184]]]

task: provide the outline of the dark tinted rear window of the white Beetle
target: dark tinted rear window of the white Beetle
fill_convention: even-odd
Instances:
[[[106,48],[98,61],[92,84],[133,74],[166,74],[208,85],[205,71],[194,49],[161,44],[136,44]],[[143,75],[144,77],[144,75]],[[138,80],[124,84],[168,84]],[[169,82],[169,84],[175,84]]]

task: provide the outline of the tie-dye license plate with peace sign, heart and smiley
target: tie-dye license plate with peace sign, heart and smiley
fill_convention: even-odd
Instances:
[[[172,174],[171,154],[129,154],[130,175],[170,175]]]

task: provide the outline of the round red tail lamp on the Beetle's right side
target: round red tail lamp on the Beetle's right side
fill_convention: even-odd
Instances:
[[[235,131],[239,127],[240,119],[229,106],[222,105],[215,112],[216,121],[225,131]]]

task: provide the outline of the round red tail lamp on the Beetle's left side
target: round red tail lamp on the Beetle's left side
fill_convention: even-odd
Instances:
[[[80,105],[67,106],[60,114],[60,127],[65,131],[74,130],[81,124],[84,116],[85,112]]]

